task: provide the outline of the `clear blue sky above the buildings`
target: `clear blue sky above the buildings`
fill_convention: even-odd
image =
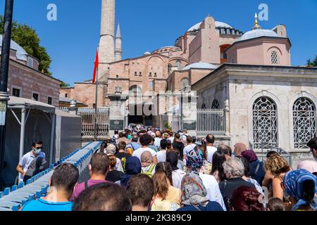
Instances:
[[[58,20],[46,20],[46,6],[57,6]],[[117,0],[116,19],[123,35],[123,58],[142,56],[175,39],[212,15],[242,32],[251,29],[259,4],[268,4],[263,29],[287,27],[292,42],[292,65],[304,65],[317,55],[317,1],[286,0]],[[99,43],[101,0],[15,0],[13,18],[37,30],[51,56],[54,77],[73,84],[92,78]],[[4,1],[0,2],[0,13]]]

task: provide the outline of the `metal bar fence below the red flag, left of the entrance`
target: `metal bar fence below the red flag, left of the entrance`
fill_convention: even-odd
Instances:
[[[67,107],[57,108],[69,113]],[[94,139],[94,126],[96,113],[94,108],[78,108],[77,115],[82,117],[82,139]],[[105,139],[109,132],[109,108],[99,108],[97,110],[97,138]]]

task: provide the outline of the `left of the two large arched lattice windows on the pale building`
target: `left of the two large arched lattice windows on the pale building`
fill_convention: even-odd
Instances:
[[[278,147],[278,110],[275,102],[266,96],[256,99],[252,116],[254,149]]]

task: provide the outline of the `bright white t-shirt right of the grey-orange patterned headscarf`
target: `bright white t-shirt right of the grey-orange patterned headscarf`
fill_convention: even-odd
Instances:
[[[207,198],[210,201],[217,202],[223,207],[223,210],[227,211],[225,208],[225,203],[223,201],[223,195],[221,195],[219,184],[216,181],[216,178],[214,176],[211,176],[209,174],[201,174],[199,173],[199,177],[203,181],[203,184],[207,190]]]

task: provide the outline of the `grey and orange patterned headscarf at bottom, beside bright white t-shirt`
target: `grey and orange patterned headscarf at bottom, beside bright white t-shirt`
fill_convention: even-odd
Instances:
[[[206,206],[209,199],[206,198],[207,191],[199,175],[190,173],[182,179],[182,205]]]

